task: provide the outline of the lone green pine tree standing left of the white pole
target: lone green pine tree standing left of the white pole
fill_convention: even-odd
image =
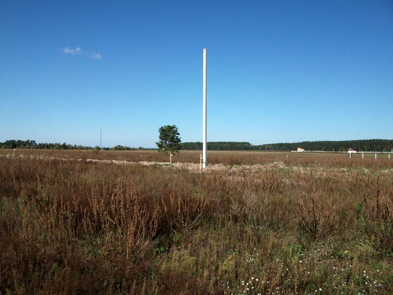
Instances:
[[[170,163],[172,163],[172,153],[179,152],[182,147],[180,144],[180,133],[178,132],[176,125],[161,126],[160,129],[158,129],[158,132],[160,133],[158,136],[160,141],[156,143],[159,148],[158,151],[168,151],[170,154]]]

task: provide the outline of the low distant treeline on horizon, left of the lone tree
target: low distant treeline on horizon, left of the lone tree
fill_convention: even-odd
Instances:
[[[100,149],[99,146],[94,148],[92,147],[83,147],[81,145],[69,145],[66,143],[39,143],[37,144],[35,140],[7,140],[3,143],[0,143],[0,148],[31,148],[31,149]],[[115,146],[113,148],[102,148],[105,150],[136,150],[136,149],[144,149],[144,148],[130,148],[123,146]]]

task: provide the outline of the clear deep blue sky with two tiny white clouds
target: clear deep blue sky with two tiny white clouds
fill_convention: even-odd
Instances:
[[[202,141],[203,48],[208,141],[393,138],[393,1],[2,0],[0,142]]]

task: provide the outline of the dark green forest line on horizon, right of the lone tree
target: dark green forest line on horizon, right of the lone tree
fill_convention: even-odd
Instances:
[[[365,139],[346,141],[305,141],[297,143],[278,143],[254,146],[248,142],[208,142],[209,150],[326,150],[326,151],[346,151],[348,148],[363,151],[392,151],[393,139]],[[202,149],[202,143],[183,143],[183,149]]]

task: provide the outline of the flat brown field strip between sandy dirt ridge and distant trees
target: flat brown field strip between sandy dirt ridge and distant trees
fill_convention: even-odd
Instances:
[[[169,155],[155,150],[136,150],[136,151],[110,151],[100,150],[50,150],[50,149],[11,149],[0,150],[0,155],[23,156],[43,156],[58,157],[67,159],[97,159],[115,160],[128,162],[168,162]],[[199,164],[201,151],[184,150],[174,154],[172,161],[180,163]],[[278,151],[208,151],[208,164],[223,165],[255,165],[269,164],[273,162],[283,162],[286,166],[300,167],[321,167],[321,168],[368,168],[368,169],[391,169],[393,168],[393,155],[388,159],[388,153],[377,154],[365,153],[352,154],[351,159],[348,153],[309,153],[309,152],[278,152]]]

